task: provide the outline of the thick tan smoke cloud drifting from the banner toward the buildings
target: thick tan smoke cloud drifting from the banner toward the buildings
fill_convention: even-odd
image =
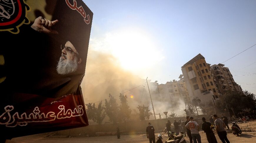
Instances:
[[[164,111],[168,111],[168,113],[175,112],[178,115],[185,113],[183,111],[185,108],[184,102],[179,101],[179,104],[174,105],[171,104],[169,97],[161,99],[157,84],[154,81],[150,82],[149,79],[148,82],[156,114],[160,113],[164,117]],[[133,89],[134,87],[137,88]],[[86,104],[100,100],[103,100],[104,103],[104,99],[109,98],[109,93],[116,96],[125,92],[124,95],[128,96],[127,100],[132,113],[138,112],[137,106],[139,104],[149,106],[150,112],[153,113],[146,80],[121,68],[117,59],[106,53],[94,50],[88,51],[82,92]],[[118,96],[116,99],[119,104]],[[159,118],[158,115],[157,118]]]

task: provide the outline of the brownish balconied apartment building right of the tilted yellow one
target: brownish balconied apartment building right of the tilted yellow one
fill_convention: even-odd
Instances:
[[[212,65],[211,69],[216,79],[216,86],[219,87],[220,93],[225,94],[228,90],[242,91],[240,85],[234,81],[233,75],[230,73],[229,68],[219,63]]]

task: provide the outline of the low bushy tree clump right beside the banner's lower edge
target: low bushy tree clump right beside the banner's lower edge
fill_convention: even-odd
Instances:
[[[101,124],[104,120],[106,114],[103,112],[104,106],[102,106],[102,101],[99,102],[98,108],[95,107],[95,103],[86,104],[87,116],[89,120],[93,120],[94,122]]]

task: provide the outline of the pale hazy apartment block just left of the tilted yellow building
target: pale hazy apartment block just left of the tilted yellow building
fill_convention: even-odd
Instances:
[[[177,101],[185,101],[188,97],[186,82],[183,78],[178,81],[172,80],[170,82],[166,82],[166,84],[160,84],[158,89],[162,101],[178,103]]]

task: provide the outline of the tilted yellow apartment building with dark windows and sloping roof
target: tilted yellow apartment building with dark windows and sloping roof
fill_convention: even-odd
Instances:
[[[218,99],[220,94],[214,82],[214,75],[205,58],[198,54],[182,67],[190,99],[198,97],[201,101]]]

